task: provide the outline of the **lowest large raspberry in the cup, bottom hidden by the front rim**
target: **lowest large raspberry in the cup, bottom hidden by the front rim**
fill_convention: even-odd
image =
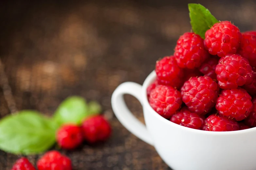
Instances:
[[[203,128],[204,131],[237,131],[239,130],[239,124],[237,121],[228,119],[220,115],[210,115],[204,120]]]

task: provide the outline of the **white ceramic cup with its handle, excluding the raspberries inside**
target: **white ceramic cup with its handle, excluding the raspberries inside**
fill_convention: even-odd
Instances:
[[[256,128],[209,132],[164,119],[151,108],[147,100],[146,88],[155,78],[153,71],[143,86],[125,82],[113,92],[112,108],[124,127],[153,145],[173,170],[256,170]],[[130,94],[140,101],[146,126],[129,111],[124,94]]]

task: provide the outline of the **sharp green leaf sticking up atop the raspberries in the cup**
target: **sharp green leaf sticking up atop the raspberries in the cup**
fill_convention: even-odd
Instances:
[[[200,4],[188,4],[190,23],[193,32],[205,38],[205,32],[209,30],[214,23],[219,22],[211,12]]]

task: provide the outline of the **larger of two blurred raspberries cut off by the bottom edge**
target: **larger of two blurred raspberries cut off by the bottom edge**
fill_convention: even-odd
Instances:
[[[72,163],[60,152],[52,150],[46,152],[37,162],[38,170],[72,170]]]

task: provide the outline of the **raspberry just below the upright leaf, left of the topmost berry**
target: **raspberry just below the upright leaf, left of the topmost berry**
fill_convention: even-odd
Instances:
[[[177,41],[174,56],[179,67],[194,69],[209,57],[209,53],[204,49],[204,40],[199,35],[185,33]]]

